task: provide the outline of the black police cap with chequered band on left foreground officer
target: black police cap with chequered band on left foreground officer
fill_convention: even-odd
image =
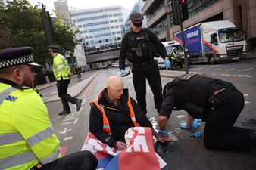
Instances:
[[[6,48],[0,50],[0,69],[19,64],[40,66],[38,63],[34,63],[32,51],[33,48],[31,47]]]

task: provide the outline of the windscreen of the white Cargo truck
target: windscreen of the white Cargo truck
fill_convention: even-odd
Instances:
[[[241,29],[220,29],[219,30],[220,42],[237,42],[243,41],[245,38],[243,36]]]

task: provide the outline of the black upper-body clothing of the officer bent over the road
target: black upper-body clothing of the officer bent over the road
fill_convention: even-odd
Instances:
[[[185,110],[195,118],[205,119],[209,108],[208,100],[214,91],[233,87],[230,82],[206,76],[195,75],[189,80],[183,80],[182,77],[167,84],[169,88],[164,95],[159,115],[170,117],[175,109]]]

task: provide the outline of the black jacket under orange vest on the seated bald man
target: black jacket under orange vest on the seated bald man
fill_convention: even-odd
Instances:
[[[116,144],[117,141],[125,142],[124,134],[126,130],[134,126],[127,105],[128,96],[128,90],[124,89],[123,96],[117,101],[117,106],[108,100],[107,88],[101,91],[101,94],[98,97],[98,104],[100,104],[101,107],[104,107],[106,116],[108,117],[111,135],[103,131],[102,113],[98,110],[98,107],[92,103],[89,116],[89,131],[92,132],[96,138],[103,143],[108,144],[110,147],[114,147],[114,144]],[[136,116],[136,122],[142,127],[152,127],[151,122],[149,122],[139,105],[136,104],[136,101],[133,100],[132,97],[130,97],[130,99]]]

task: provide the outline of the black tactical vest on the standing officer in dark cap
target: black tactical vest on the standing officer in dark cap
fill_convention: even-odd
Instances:
[[[127,59],[129,61],[139,63],[153,58],[151,42],[145,29],[142,29],[139,33],[133,32],[130,34],[128,41]]]

